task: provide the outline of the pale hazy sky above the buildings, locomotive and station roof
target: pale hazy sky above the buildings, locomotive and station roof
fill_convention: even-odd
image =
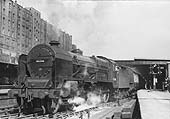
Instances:
[[[170,59],[170,1],[17,0],[73,37],[87,56]]]

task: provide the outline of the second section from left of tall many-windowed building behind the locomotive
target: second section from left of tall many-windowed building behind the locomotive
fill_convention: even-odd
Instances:
[[[20,54],[27,54],[32,48],[33,17],[32,13],[17,5],[17,43]]]

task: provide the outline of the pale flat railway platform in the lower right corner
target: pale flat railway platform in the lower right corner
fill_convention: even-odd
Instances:
[[[139,90],[137,92],[142,119],[170,119],[170,93]]]

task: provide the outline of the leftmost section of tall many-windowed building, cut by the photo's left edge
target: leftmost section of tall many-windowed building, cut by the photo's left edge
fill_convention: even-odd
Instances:
[[[17,5],[11,0],[0,1],[0,46],[3,49],[16,51]]]

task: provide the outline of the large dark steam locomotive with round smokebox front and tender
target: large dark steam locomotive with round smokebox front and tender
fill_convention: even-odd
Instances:
[[[18,85],[8,92],[9,96],[17,98],[24,113],[51,113],[62,106],[70,109],[68,100],[75,96],[87,99],[89,92],[95,92],[101,102],[108,102],[118,89],[126,95],[138,86],[139,75],[130,68],[78,51],[64,51],[52,41],[50,45],[36,45],[28,55],[22,54]]]

